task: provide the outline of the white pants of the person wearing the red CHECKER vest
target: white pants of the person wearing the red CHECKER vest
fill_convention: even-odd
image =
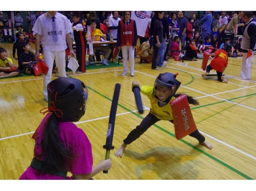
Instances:
[[[133,73],[134,70],[134,48],[133,46],[121,46],[122,53],[123,53],[123,65],[124,65],[124,72],[127,73],[127,59],[128,59],[128,52],[129,52],[129,63],[130,63],[130,73]]]

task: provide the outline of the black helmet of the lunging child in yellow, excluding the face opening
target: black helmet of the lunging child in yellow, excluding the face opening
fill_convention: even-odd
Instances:
[[[158,77],[155,80],[155,85],[154,85],[154,96],[156,98],[157,101],[159,102],[169,102],[170,99],[172,98],[172,96],[176,93],[176,91],[178,90],[178,88],[180,87],[181,82],[176,80],[176,76],[177,74],[173,74],[173,73],[160,73],[158,75]],[[165,100],[159,100],[157,95],[156,95],[156,89],[158,88],[168,88],[171,89],[172,92],[171,94],[165,99]],[[172,88],[174,87],[174,89]]]

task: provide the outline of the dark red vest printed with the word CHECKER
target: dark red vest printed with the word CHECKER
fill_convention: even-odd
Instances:
[[[130,24],[124,24],[123,20],[120,20],[121,27],[121,46],[133,46],[134,41],[134,26],[133,20]]]

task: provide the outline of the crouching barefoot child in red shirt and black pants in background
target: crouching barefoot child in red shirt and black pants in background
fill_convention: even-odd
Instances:
[[[228,80],[222,75],[228,66],[228,52],[232,49],[230,44],[225,44],[222,49],[216,50],[210,56],[215,56],[211,63],[206,67],[206,73],[202,74],[205,77],[214,69],[217,72],[217,77],[220,82],[228,83]],[[212,57],[210,57],[212,58]]]

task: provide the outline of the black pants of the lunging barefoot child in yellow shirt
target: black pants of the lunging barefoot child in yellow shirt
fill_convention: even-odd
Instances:
[[[154,125],[157,121],[160,121],[160,119],[156,118],[152,113],[149,113],[136,127],[136,129],[133,129],[128,136],[124,139],[124,144],[128,145],[131,144],[133,141],[138,139],[140,135],[142,135],[145,131],[148,130],[148,128],[152,125]],[[170,120],[170,122],[173,123],[173,120]],[[199,131],[196,129],[193,133],[189,134],[189,136],[196,138],[199,142],[204,142],[205,138],[202,134],[199,133]]]

